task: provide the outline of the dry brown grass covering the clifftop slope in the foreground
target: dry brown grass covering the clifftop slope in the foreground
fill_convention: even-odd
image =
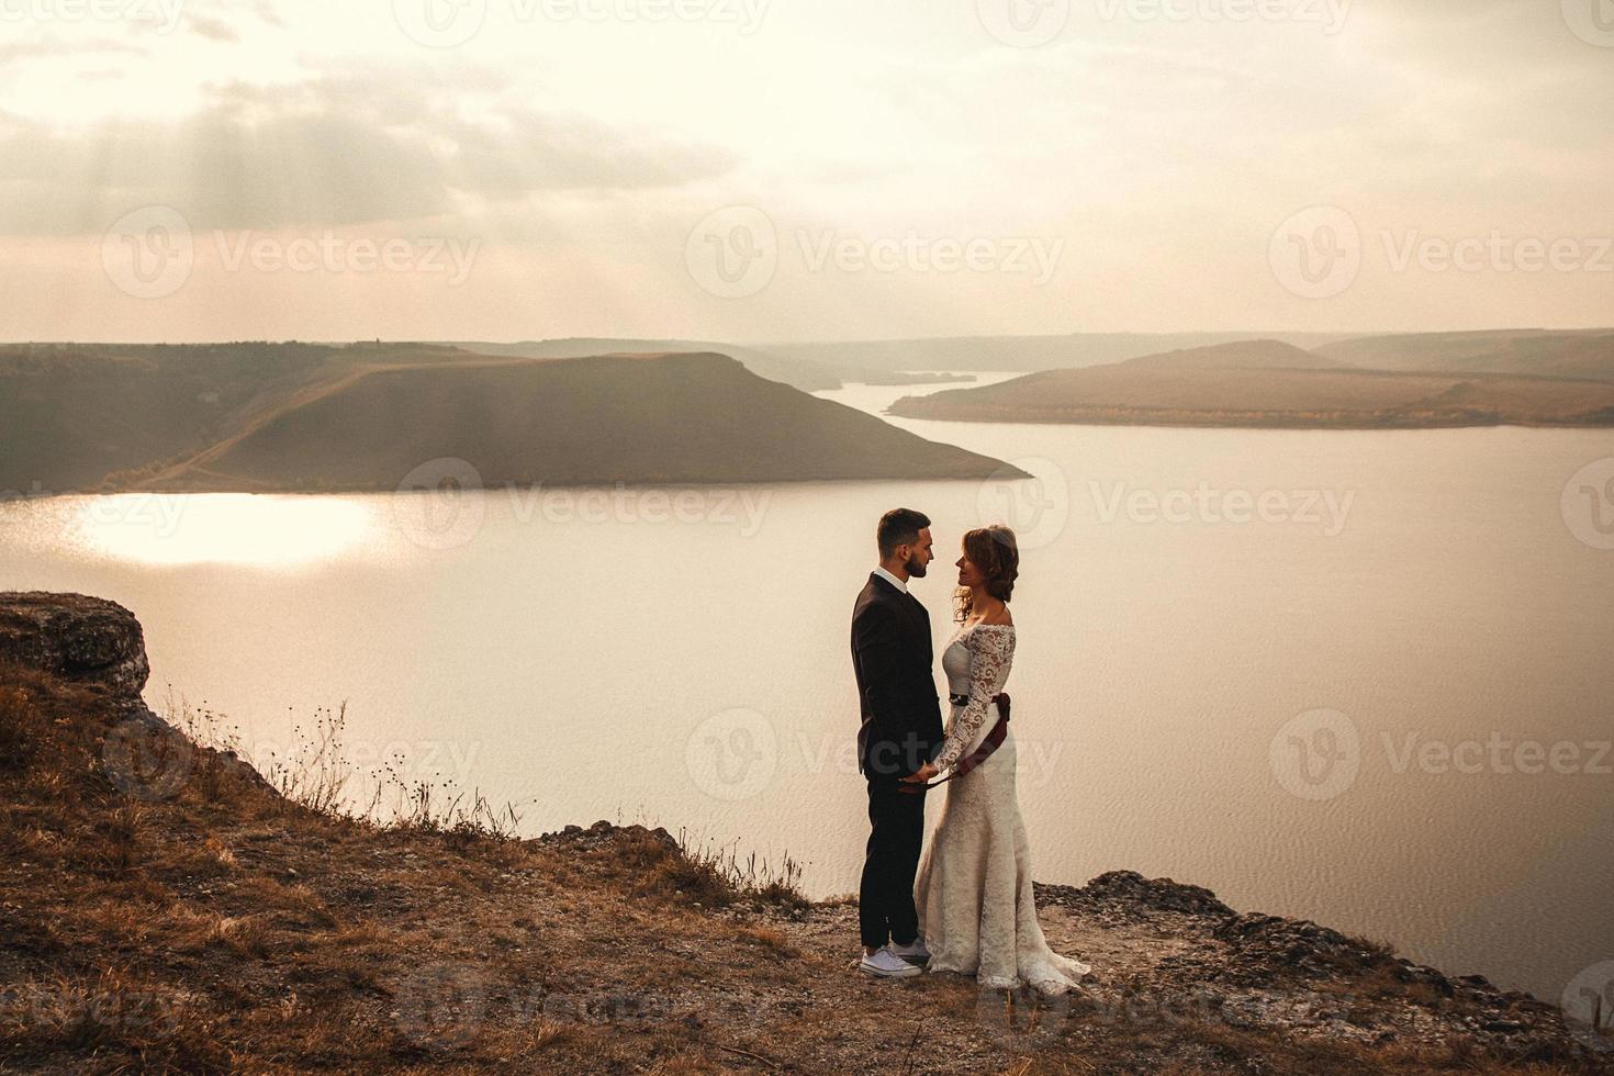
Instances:
[[[641,826],[516,840],[513,816],[439,792],[376,820],[349,808],[342,710],[274,787],[192,711],[195,739],[150,755],[189,750],[186,781],[131,799],[107,771],[121,713],[103,695],[3,668],[0,684],[6,1068],[1554,1071],[1462,1042],[1369,1050],[1080,1007],[996,1028],[973,982],[852,973],[855,932],[812,932],[855,920],[851,895],[809,905],[789,858]]]

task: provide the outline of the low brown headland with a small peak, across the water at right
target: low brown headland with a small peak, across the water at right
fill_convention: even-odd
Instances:
[[[1614,426],[1614,384],[1353,369],[1327,355],[1257,340],[904,397],[891,413],[1157,426]]]

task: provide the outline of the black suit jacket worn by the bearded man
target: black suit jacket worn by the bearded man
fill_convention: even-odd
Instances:
[[[852,610],[852,671],[863,723],[857,771],[870,781],[917,773],[941,750],[941,697],[931,671],[930,613],[870,573]]]

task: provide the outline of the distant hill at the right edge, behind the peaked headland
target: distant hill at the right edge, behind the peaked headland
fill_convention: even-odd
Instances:
[[[1614,329],[1414,332],[1317,348],[1353,366],[1614,381]]]

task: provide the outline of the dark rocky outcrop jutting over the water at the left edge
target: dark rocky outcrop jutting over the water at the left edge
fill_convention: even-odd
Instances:
[[[0,660],[136,700],[152,668],[134,613],[84,594],[0,592]]]

